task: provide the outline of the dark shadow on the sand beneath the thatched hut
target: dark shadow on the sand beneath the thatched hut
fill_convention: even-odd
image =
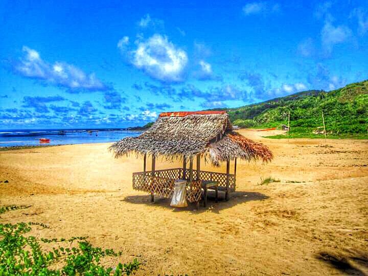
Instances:
[[[265,200],[268,196],[257,192],[234,192],[230,194],[229,200],[225,201],[224,193],[219,193],[219,199],[215,201],[215,191],[209,191],[207,196],[207,206],[203,206],[203,200],[199,203],[199,210],[196,210],[194,203],[188,203],[188,207],[174,208],[170,206],[171,199],[163,197],[155,197],[155,202],[150,202],[150,195],[135,195],[126,196],[121,201],[126,201],[133,204],[146,204],[149,206],[159,206],[164,209],[172,210],[173,212],[192,212],[193,214],[200,214],[203,212],[219,213],[219,211],[232,208],[235,205],[254,200]]]

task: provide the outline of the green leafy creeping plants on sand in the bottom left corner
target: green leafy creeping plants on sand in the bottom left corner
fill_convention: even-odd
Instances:
[[[85,237],[63,239],[79,240],[78,247],[54,247],[46,251],[36,237],[27,235],[30,231],[31,227],[24,222],[0,224],[0,275],[131,275],[141,265],[134,259],[127,264],[119,263],[115,270],[104,267],[102,258],[118,257],[122,252],[94,247]],[[57,262],[64,266],[61,269],[50,268]]]

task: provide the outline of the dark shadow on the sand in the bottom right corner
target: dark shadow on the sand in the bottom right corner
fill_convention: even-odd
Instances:
[[[361,252],[345,256],[320,252],[316,259],[347,275],[368,275],[368,255]]]

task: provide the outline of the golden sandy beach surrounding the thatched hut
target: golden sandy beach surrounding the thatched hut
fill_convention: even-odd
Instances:
[[[322,139],[288,143],[240,133],[275,158],[238,162],[237,192],[219,203],[210,193],[197,211],[174,209],[163,198],[150,203],[132,190],[143,160],[113,158],[110,144],[1,151],[0,181],[9,183],[0,183],[0,205],[31,207],[4,213],[0,222],[47,224],[32,230],[44,238],[89,236],[96,246],[123,251],[106,265],[143,262],[139,275],[368,274],[368,141],[326,146]],[[225,172],[225,164],[202,163]],[[156,169],[177,167],[156,162]],[[280,182],[259,185],[267,177]]]

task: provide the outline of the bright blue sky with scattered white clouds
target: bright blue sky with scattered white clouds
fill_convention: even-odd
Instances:
[[[368,79],[366,1],[3,0],[0,24],[2,129],[142,125]]]

